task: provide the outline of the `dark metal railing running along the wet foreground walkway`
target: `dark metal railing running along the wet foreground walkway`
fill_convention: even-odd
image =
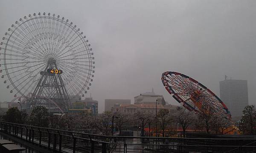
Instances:
[[[101,136],[0,121],[0,131],[61,153],[254,153],[256,139]]]

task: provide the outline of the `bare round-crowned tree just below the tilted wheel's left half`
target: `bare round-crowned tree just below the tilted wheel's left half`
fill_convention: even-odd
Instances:
[[[195,115],[192,112],[189,112],[186,109],[179,109],[177,113],[174,114],[175,120],[179,123],[183,130],[183,137],[186,138],[186,129],[189,125],[192,125],[195,122]]]

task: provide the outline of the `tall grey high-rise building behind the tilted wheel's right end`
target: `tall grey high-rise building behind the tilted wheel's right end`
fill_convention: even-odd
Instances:
[[[241,118],[244,107],[248,105],[247,80],[220,81],[221,101],[229,109],[232,118]]]

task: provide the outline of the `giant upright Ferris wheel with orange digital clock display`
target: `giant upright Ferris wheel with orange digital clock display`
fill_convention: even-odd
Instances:
[[[12,24],[0,43],[0,72],[14,97],[47,97],[61,109],[93,81],[93,53],[83,32],[55,14],[29,14]],[[33,98],[30,105],[46,99]],[[30,106],[29,106],[30,107]]]

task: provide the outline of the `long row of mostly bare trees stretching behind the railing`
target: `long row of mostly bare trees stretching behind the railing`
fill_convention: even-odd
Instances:
[[[56,115],[49,113],[44,106],[35,107],[28,115],[26,112],[18,110],[17,107],[12,107],[5,115],[1,116],[1,120],[107,136],[116,133],[122,136],[125,130],[137,129],[140,130],[140,136],[169,137],[177,133],[178,127],[182,129],[183,137],[186,137],[189,127],[193,127],[194,132],[206,134],[227,134],[236,127],[239,127],[243,134],[256,133],[256,109],[254,106],[245,107],[241,120],[236,124],[225,116],[216,114],[214,109],[207,105],[204,106],[202,113],[196,114],[183,107],[177,107],[174,112],[161,109],[157,115],[147,111],[137,111],[133,114],[104,112],[99,115],[88,113]],[[145,128],[148,129],[147,132],[145,132]]]

